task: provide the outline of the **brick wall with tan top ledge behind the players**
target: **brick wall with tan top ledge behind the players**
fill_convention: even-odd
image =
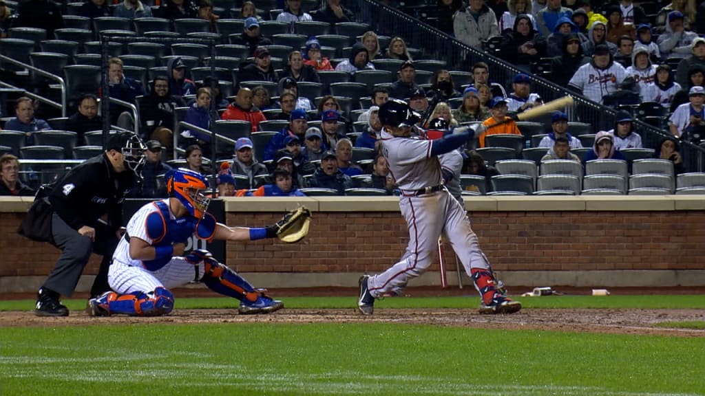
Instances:
[[[705,197],[469,197],[474,231],[509,285],[705,285]],[[30,199],[0,197],[0,292],[35,290],[59,251],[16,234]],[[354,286],[391,266],[408,233],[395,197],[228,198],[228,225],[262,226],[305,204],[309,237],[228,242],[228,265],[266,287]],[[446,249],[448,271],[455,270]],[[93,257],[78,290],[90,287]],[[412,285],[440,283],[438,266]],[[448,273],[450,284],[458,282]],[[469,283],[467,277],[465,283]]]

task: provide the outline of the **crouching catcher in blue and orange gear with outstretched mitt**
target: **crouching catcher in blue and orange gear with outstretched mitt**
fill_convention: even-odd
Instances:
[[[240,300],[240,314],[268,314],[284,307],[281,301],[255,289],[235,271],[216,261],[206,250],[184,255],[192,235],[202,240],[261,240],[279,237],[297,242],[306,236],[310,211],[303,207],[264,228],[230,228],[206,213],[210,199],[204,193],[208,181],[185,168],[166,175],[169,197],[142,206],[127,225],[115,250],[108,273],[114,292],[88,301],[90,316],[127,314],[166,315],[173,309],[170,289],[193,280],[205,283],[221,295]]]

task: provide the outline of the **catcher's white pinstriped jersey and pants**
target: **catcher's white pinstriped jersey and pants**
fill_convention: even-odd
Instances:
[[[168,206],[169,200],[164,199]],[[147,235],[145,227],[147,216],[152,212],[159,212],[159,209],[152,202],[142,206],[130,218],[127,226],[127,233],[130,237],[137,237],[145,240],[150,245],[154,242]],[[169,216],[174,216],[169,211]],[[203,277],[203,266],[199,267],[198,279]],[[122,238],[113,255],[113,263],[108,272],[108,283],[118,294],[128,294],[131,292],[151,292],[157,287],[171,289],[185,285],[195,280],[196,273],[193,264],[188,263],[183,257],[176,256],[165,266],[156,271],[149,271],[142,266],[142,261],[130,257],[130,243]]]

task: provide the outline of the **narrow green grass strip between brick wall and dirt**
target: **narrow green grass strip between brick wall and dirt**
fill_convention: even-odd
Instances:
[[[356,296],[349,297],[279,297],[287,308],[354,308]],[[550,296],[516,297],[525,308],[603,308],[603,309],[701,309],[705,307],[705,295],[611,295],[592,296]],[[85,300],[66,299],[62,301],[68,309],[85,308]],[[375,303],[380,308],[475,308],[479,296],[461,297],[396,297],[386,298]],[[0,311],[27,311],[34,307],[32,300],[0,302]],[[176,309],[232,308],[235,301],[227,297],[179,298],[176,296]]]

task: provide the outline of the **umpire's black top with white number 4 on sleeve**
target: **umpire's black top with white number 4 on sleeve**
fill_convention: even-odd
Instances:
[[[116,173],[106,153],[94,156],[75,168],[49,193],[54,212],[74,230],[84,225],[95,228],[98,219],[108,215],[108,227],[117,230],[122,223],[123,199],[135,185],[135,173]]]

